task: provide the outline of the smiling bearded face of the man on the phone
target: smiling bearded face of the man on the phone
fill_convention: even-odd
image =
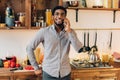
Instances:
[[[63,25],[65,18],[66,18],[66,14],[64,10],[61,10],[61,9],[56,10],[53,15],[53,21],[57,26]]]

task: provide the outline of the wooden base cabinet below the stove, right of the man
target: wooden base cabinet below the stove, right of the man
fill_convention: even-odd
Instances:
[[[72,80],[119,80],[119,68],[73,69]]]

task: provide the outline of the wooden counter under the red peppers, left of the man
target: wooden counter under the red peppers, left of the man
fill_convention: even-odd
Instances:
[[[39,80],[41,76],[36,76],[34,70],[15,70],[10,71],[10,68],[0,68],[0,80]]]

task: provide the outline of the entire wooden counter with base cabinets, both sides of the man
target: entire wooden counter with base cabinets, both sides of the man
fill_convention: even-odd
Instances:
[[[71,80],[120,80],[120,63],[114,63],[111,68],[81,68],[72,69]],[[34,70],[15,70],[0,68],[0,80],[41,80]]]

